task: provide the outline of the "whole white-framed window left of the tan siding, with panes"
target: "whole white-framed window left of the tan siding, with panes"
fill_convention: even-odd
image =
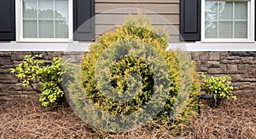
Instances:
[[[20,41],[70,41],[72,0],[20,0]]]

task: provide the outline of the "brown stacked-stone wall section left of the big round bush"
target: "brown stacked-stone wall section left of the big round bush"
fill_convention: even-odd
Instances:
[[[0,52],[0,101],[26,98],[35,94],[31,87],[23,87],[18,78],[9,72],[9,68],[19,64],[25,55],[36,54],[43,54],[46,63],[55,56],[61,56],[61,52]]]

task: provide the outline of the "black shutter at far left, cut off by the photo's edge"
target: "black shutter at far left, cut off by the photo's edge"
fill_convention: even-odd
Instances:
[[[15,0],[0,0],[0,40],[15,40]]]

